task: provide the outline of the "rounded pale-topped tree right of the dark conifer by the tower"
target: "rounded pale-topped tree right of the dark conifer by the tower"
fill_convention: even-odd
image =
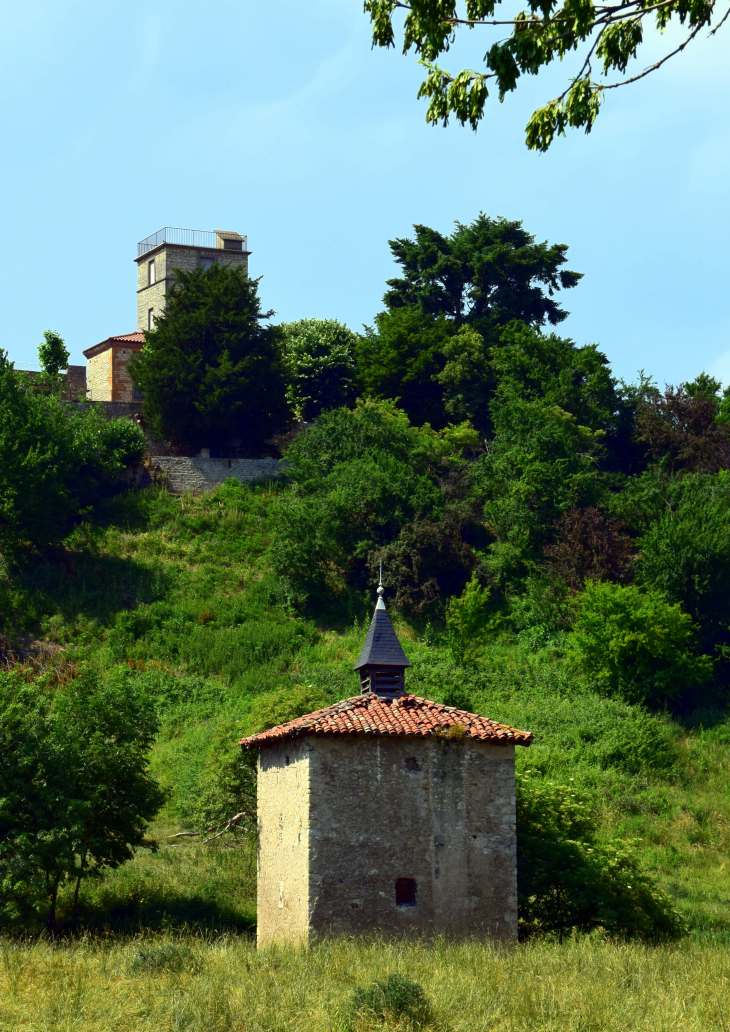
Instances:
[[[314,419],[351,401],[357,334],[337,319],[298,319],[280,328],[286,394],[297,419]]]

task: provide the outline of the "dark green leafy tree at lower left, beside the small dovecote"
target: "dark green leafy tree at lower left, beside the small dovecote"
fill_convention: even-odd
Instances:
[[[119,867],[163,796],[148,770],[157,732],[127,681],[78,677],[55,691],[0,675],[0,900],[6,917],[49,907],[59,885]],[[76,896],[77,898],[77,896]]]

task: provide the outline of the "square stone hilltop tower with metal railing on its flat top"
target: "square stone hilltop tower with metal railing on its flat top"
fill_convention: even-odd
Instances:
[[[247,240],[240,233],[217,229],[174,229],[165,226],[137,244],[137,330],[153,329],[164,311],[176,268],[192,271],[214,262],[249,269]]]

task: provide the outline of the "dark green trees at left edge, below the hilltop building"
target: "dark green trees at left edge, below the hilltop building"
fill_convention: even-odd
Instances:
[[[0,547],[9,551],[57,541],[141,457],[144,436],[128,419],[32,390],[0,352]]]

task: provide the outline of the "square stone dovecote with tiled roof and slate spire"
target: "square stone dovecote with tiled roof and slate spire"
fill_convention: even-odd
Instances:
[[[514,748],[533,735],[405,690],[380,598],[360,695],[258,750],[258,943],[517,935]]]

